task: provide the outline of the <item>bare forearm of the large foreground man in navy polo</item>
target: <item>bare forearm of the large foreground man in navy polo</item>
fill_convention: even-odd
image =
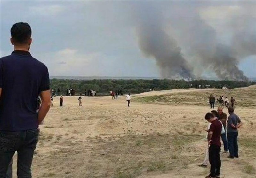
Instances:
[[[38,123],[39,124],[44,120],[44,118],[45,118],[45,116],[46,116],[46,114],[49,111],[50,106],[51,106],[51,92],[50,92],[50,90],[42,91],[40,93],[40,98],[41,98],[42,102],[41,102],[41,107],[38,111]]]

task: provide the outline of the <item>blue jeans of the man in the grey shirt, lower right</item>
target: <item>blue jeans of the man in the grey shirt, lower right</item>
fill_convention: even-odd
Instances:
[[[229,156],[238,157],[238,144],[237,144],[238,132],[228,133],[228,150]]]

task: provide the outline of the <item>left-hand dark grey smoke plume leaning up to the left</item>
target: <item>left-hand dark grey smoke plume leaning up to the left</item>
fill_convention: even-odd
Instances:
[[[136,4],[138,5],[138,4]],[[151,4],[136,6],[136,32],[140,50],[156,59],[162,77],[172,79],[194,78],[192,68],[182,56],[176,40],[164,30],[163,17]]]

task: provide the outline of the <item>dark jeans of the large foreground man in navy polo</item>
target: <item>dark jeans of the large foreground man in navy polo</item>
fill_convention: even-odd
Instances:
[[[0,178],[7,176],[8,166],[15,151],[18,153],[18,178],[31,178],[31,164],[38,135],[38,129],[21,132],[0,131]]]

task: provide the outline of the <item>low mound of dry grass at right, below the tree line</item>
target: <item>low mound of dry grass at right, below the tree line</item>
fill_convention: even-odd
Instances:
[[[167,105],[209,105],[208,97],[213,94],[215,98],[220,96],[234,97],[235,106],[255,107],[256,106],[256,86],[251,86],[243,89],[215,89],[215,90],[196,90],[172,93],[159,96],[137,97],[134,100],[137,102],[153,103],[153,104],[167,104]],[[219,104],[216,102],[216,106]]]

